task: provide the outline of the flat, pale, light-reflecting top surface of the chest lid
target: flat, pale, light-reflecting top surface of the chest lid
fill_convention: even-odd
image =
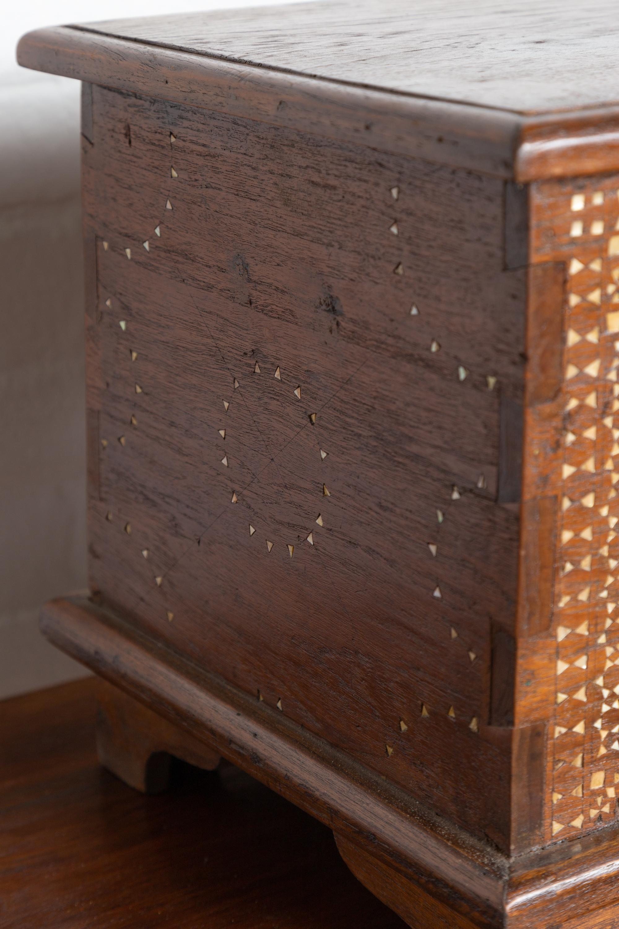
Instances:
[[[518,112],[617,102],[613,0],[346,0],[84,28],[250,65]],[[595,67],[592,67],[595,62]]]

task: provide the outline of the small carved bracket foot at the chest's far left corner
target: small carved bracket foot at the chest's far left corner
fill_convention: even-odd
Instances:
[[[207,771],[219,764],[216,752],[106,681],[97,700],[99,761],[135,790],[164,791],[173,755]]]

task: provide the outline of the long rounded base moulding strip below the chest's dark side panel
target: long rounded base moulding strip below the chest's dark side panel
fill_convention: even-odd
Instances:
[[[388,866],[426,875],[430,896],[494,925],[506,860],[265,701],[207,674],[107,608],[48,604],[44,634],[135,700],[205,742]],[[417,891],[413,888],[411,893]]]

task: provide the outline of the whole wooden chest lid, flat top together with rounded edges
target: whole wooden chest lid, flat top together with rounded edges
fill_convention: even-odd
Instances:
[[[26,67],[527,181],[619,169],[615,0],[339,0],[25,36]]]

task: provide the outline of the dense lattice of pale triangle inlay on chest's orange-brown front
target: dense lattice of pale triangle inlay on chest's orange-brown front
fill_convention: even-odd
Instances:
[[[613,819],[619,788],[619,178],[548,190],[534,242],[566,273],[561,448],[548,455],[558,525],[546,809],[547,838],[560,840]]]

